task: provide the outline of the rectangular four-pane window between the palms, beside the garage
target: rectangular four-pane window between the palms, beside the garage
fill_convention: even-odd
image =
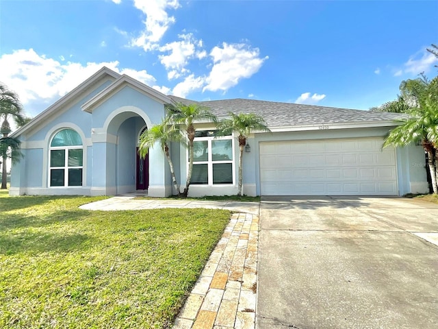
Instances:
[[[215,136],[214,130],[196,132],[190,184],[233,184],[233,137]]]

